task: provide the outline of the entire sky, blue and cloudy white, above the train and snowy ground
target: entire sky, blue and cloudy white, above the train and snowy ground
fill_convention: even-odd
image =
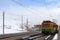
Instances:
[[[0,19],[3,11],[6,25],[21,23],[21,15],[24,16],[24,23],[27,18],[29,24],[40,24],[43,20],[56,19],[60,25],[60,0],[0,0]]]

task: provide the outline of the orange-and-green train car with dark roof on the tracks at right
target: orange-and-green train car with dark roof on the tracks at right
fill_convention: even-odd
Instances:
[[[58,32],[58,25],[52,21],[43,21],[42,24],[42,34],[55,34]]]

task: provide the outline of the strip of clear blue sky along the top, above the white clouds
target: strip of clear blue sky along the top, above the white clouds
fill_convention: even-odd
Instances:
[[[60,6],[60,0],[0,0],[0,9],[7,8],[17,1],[27,7],[54,7]]]

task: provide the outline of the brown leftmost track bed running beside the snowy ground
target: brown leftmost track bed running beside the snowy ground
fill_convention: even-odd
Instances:
[[[38,34],[38,33],[40,34],[41,32],[27,32],[27,33],[0,35],[0,40],[16,40],[24,36],[30,36],[30,35]]]

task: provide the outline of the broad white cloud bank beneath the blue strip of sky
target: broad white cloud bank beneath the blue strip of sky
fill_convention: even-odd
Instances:
[[[35,23],[40,23],[42,20],[47,20],[47,19],[53,19],[55,16],[54,15],[60,15],[60,8],[24,8],[22,6],[10,6],[8,7],[6,10],[6,15],[10,15],[10,18],[12,17],[12,19],[10,20],[13,20],[13,18],[15,19],[21,19],[21,15],[24,15],[25,19],[24,21],[26,20],[26,18],[29,18],[30,20],[30,23],[31,24],[35,24]],[[20,16],[17,16],[17,15],[20,15]],[[51,17],[52,16],[52,17]],[[9,18],[9,16],[8,16]],[[21,21],[19,19],[19,21]],[[17,21],[16,20],[16,21]],[[14,21],[14,20],[13,20]],[[18,21],[18,22],[19,22]]]

